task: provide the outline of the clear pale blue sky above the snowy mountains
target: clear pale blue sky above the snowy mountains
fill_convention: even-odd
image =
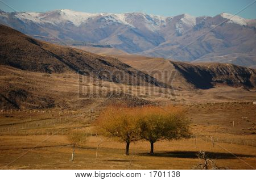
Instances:
[[[147,14],[174,16],[183,13],[193,16],[214,16],[221,12],[236,14],[254,0],[0,0],[0,9],[44,12],[54,9],[71,9],[83,12],[146,12]],[[238,14],[243,18],[256,19],[256,2]]]

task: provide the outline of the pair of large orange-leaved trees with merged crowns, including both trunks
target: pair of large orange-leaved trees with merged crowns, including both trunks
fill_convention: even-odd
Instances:
[[[180,108],[175,107],[117,107],[106,108],[97,126],[106,136],[118,137],[126,142],[126,155],[130,142],[147,140],[154,153],[154,143],[160,140],[188,138],[188,120]]]

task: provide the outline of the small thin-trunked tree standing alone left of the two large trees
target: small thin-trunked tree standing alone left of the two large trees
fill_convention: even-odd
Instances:
[[[85,141],[85,134],[77,131],[71,132],[67,135],[67,140],[73,147],[72,157],[71,157],[71,161],[73,161],[74,155],[75,155],[75,148],[77,145],[81,144],[81,142]]]

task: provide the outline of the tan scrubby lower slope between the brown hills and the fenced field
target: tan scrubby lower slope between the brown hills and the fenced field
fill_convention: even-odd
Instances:
[[[82,90],[78,91],[76,73],[47,74],[0,65],[0,110],[11,108],[90,110],[113,102],[136,106],[152,102],[226,102],[255,99],[255,90],[247,91],[242,87],[225,85],[205,90],[170,90],[156,86],[99,82],[85,75],[81,75],[81,79]],[[189,85],[178,74],[175,83],[183,87]]]

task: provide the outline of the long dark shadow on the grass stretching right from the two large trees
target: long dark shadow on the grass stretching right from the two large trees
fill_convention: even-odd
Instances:
[[[152,157],[173,157],[173,158],[198,158],[198,151],[164,151],[158,152],[153,155],[150,153],[138,153],[138,155],[152,156]],[[217,153],[205,151],[207,158],[209,159],[232,159],[236,157],[255,157],[254,155],[247,154],[230,154],[230,153]]]

